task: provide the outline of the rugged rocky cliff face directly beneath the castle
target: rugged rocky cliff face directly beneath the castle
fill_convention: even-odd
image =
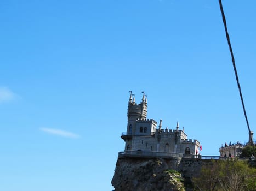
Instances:
[[[118,158],[111,181],[115,191],[185,190],[177,162],[167,159]]]

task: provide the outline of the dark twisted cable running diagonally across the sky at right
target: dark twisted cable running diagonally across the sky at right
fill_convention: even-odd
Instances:
[[[219,0],[219,4],[220,4],[220,11],[221,11],[221,15],[222,15],[223,24],[224,24],[224,27],[225,27],[225,32],[226,32],[227,44],[229,44],[229,51],[231,53],[232,63],[233,63],[233,67],[234,67],[234,71],[235,71],[235,75],[236,75],[236,82],[237,82],[237,86],[238,86],[238,89],[239,89],[240,98],[241,98],[241,102],[242,102],[242,106],[243,106],[243,113],[244,113],[244,117],[246,118],[246,123],[247,123],[247,127],[248,127],[248,130],[249,130],[249,138],[250,138],[249,143],[252,144],[253,140],[252,140],[252,135],[250,133],[251,130],[250,130],[248,118],[247,118],[247,115],[246,115],[246,108],[245,108],[244,103],[243,103],[243,96],[242,96],[241,86],[240,86],[239,79],[238,79],[238,74],[237,74],[236,64],[235,64],[235,58],[234,58],[233,50],[232,50],[231,43],[230,43],[229,33],[227,32],[226,18],[225,18],[225,14],[224,14],[224,10],[223,10],[221,0]]]

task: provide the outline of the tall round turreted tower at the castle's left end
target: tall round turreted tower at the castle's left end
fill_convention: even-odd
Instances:
[[[130,91],[130,98],[128,102],[128,111],[127,111],[127,134],[133,134],[135,132],[136,120],[147,118],[147,98],[145,99],[145,93],[141,99],[140,104],[135,103],[135,94],[132,94]]]

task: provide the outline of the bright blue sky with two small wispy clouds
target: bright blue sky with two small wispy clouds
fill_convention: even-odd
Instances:
[[[223,6],[255,132],[256,2]],[[0,22],[0,190],[112,190],[130,90],[202,155],[248,141],[217,0],[2,0]]]

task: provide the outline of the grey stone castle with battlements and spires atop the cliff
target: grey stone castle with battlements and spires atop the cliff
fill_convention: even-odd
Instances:
[[[179,130],[179,122],[172,130],[162,129],[162,120],[157,127],[155,120],[147,119],[147,97],[144,92],[141,102],[137,104],[135,95],[130,91],[127,117],[127,131],[121,136],[126,142],[124,153],[157,153],[158,157],[168,156],[168,153],[177,153],[180,157],[199,154],[200,142],[187,139],[184,128]]]

